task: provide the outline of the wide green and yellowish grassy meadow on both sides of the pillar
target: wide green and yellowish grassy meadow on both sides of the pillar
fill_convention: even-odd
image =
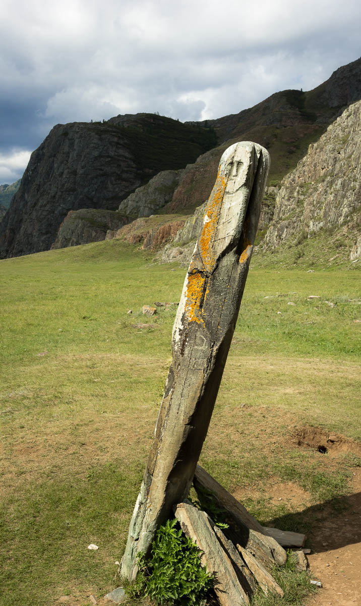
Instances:
[[[201,454],[262,524],[306,533],[361,465],[361,274],[313,270],[255,256]],[[141,307],[178,302],[184,275],[117,240],[0,261],[1,606],[119,584],[177,308]],[[309,428],[343,447],[300,447]]]

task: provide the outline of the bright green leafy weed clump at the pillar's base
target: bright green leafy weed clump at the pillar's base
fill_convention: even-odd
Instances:
[[[206,604],[213,578],[201,565],[201,555],[177,520],[168,520],[157,531],[150,558],[139,554],[137,579],[126,593],[131,598],[147,595],[159,606]]]

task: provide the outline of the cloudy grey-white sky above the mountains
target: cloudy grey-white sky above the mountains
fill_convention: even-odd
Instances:
[[[360,50],[359,0],[1,0],[0,184],[59,122],[237,113]]]

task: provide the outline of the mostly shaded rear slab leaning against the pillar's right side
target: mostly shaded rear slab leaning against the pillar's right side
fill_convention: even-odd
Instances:
[[[274,564],[283,565],[287,553],[279,543],[251,516],[249,511],[232,496],[221,484],[212,478],[200,465],[194,474],[194,487],[205,489],[212,493],[213,498],[222,507],[227,516],[233,519],[231,530],[233,542],[238,541],[242,547],[253,553],[267,568]],[[229,519],[227,519],[229,521]],[[227,533],[228,534],[228,533]]]

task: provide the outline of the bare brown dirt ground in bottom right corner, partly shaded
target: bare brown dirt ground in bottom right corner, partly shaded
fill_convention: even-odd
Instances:
[[[331,510],[310,536],[307,556],[311,573],[323,588],[308,606],[361,605],[361,469],[355,468],[350,507],[339,514]]]

